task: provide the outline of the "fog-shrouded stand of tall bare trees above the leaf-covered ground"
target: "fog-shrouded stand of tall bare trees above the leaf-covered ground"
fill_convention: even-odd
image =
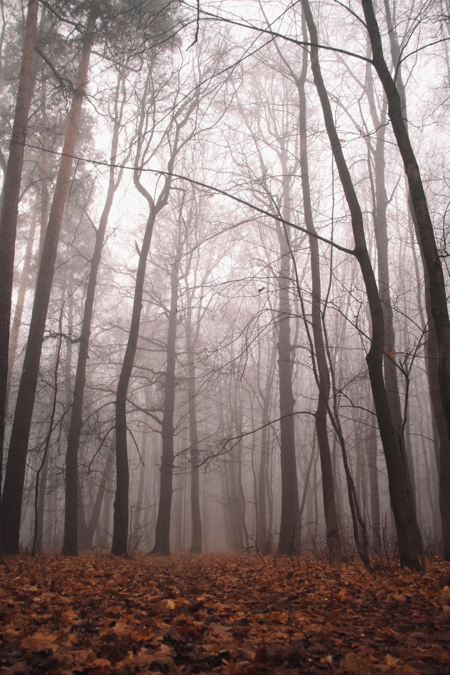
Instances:
[[[450,560],[447,4],[1,10],[3,553]]]

